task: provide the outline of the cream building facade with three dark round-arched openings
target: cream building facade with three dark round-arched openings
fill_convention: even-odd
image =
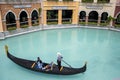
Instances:
[[[97,25],[100,25],[107,21],[107,17],[114,17],[116,0],[90,1],[86,3],[84,0],[80,0],[79,16],[81,20],[85,19],[86,24],[96,22]]]

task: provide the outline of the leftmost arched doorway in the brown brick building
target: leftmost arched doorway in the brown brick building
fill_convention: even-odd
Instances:
[[[7,27],[7,30],[16,29],[15,15],[12,12],[7,13],[6,15],[6,27]]]

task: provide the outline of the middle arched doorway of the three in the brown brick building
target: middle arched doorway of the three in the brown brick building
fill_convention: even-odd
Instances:
[[[22,11],[20,13],[20,27],[21,28],[28,27],[28,18],[27,18],[27,13],[25,11]]]

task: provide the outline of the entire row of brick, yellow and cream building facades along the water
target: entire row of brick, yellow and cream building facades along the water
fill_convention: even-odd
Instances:
[[[119,23],[119,6],[120,0],[2,0],[0,32],[49,22],[100,25],[106,23],[109,16],[117,18]]]

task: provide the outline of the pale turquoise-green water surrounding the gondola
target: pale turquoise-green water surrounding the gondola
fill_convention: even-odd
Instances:
[[[54,61],[59,51],[72,67],[85,73],[61,76],[24,69],[6,57],[4,45],[13,55],[43,62]],[[67,66],[62,63],[62,65]],[[120,32],[98,29],[45,30],[0,40],[0,80],[120,80]]]

